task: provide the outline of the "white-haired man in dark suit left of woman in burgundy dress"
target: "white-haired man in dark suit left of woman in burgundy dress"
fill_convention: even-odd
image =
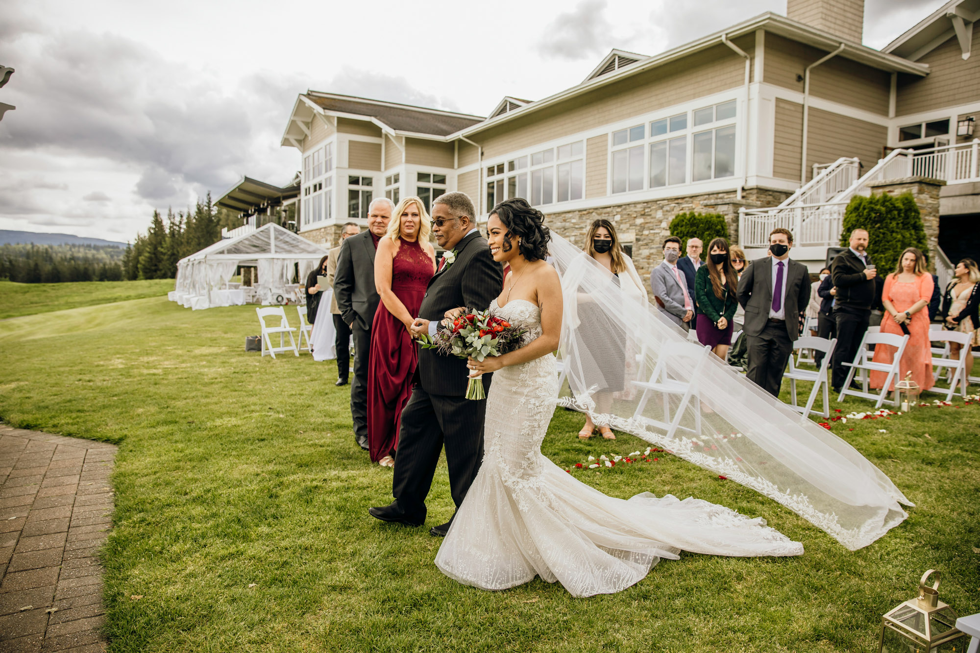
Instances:
[[[395,206],[379,197],[368,207],[368,230],[346,238],[340,245],[333,274],[333,296],[343,321],[354,334],[354,381],[351,383],[351,419],[354,439],[368,449],[368,352],[370,327],[380,301],[374,287],[374,252]],[[337,351],[340,356],[340,351]]]

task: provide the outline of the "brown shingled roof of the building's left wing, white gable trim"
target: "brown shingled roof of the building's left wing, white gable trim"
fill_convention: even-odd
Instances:
[[[326,116],[363,120],[392,134],[430,136],[438,140],[484,120],[469,114],[310,90],[297,98],[282,144],[299,148],[299,141],[309,135],[309,124],[318,114],[320,120]]]

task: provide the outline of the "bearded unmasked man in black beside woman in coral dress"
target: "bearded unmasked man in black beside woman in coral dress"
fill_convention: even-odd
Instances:
[[[858,353],[877,294],[874,281],[877,271],[867,255],[867,238],[864,229],[852,231],[850,249],[838,254],[830,264],[830,277],[837,288],[837,302],[834,305],[837,349],[834,350],[834,370],[830,377],[834,392],[841,391],[848,377],[848,368],[844,363],[852,362]]]

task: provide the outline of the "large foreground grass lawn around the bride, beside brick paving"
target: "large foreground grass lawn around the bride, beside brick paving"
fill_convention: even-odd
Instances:
[[[354,443],[349,386],[307,353],[246,353],[256,322],[254,307],[149,298],[0,323],[0,419],[121,444],[103,554],[113,651],[869,651],[930,568],[944,601],[980,612],[980,406],[834,423],[916,504],[859,551],[666,456],[575,475],[613,496],[693,495],[764,517],[806,554],[682,554],[588,599],[541,580],[486,592],[439,573],[427,529],[368,517],[390,500],[391,471]],[[569,467],[644,446],[581,442],[581,425],[558,410],[546,455]],[[451,514],[443,465],[429,526]]]

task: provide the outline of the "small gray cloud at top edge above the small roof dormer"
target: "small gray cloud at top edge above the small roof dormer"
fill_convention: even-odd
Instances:
[[[535,49],[545,57],[568,60],[605,53],[613,47],[613,25],[606,20],[605,11],[606,0],[582,0],[545,28]]]

